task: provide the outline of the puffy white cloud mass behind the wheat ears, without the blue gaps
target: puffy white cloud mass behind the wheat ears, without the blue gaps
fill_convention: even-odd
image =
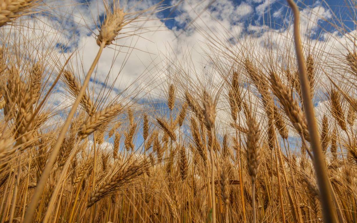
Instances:
[[[272,30],[268,26],[250,25],[246,27],[247,30],[254,31],[255,34],[247,36],[243,33],[245,27],[237,21],[252,14],[253,8],[247,2],[235,5],[229,0],[217,0],[211,7],[205,9],[209,2],[207,0],[201,2],[184,1],[178,6],[182,14],[175,18],[176,22],[185,24],[187,21],[194,20],[187,29],[170,30],[162,21],[153,16],[151,18],[156,20],[137,24],[147,27],[152,32],[140,33],[138,31],[136,36],[118,40],[116,42],[118,46],[106,47],[92,77],[96,81],[106,83],[107,86],[113,85],[115,89],[104,88],[101,83],[90,83],[91,96],[100,98],[105,95],[106,102],[109,102],[117,95],[117,89],[120,91],[129,87],[128,93],[138,93],[141,89],[145,89],[146,91],[142,92],[140,96],[150,92],[150,97],[159,97],[162,96],[160,90],[167,86],[166,78],[175,77],[175,74],[172,74],[171,71],[181,72],[181,75],[187,74],[192,78],[190,82],[180,77],[182,84],[185,81],[188,82],[187,85],[197,84],[200,78],[207,78],[207,75],[212,77],[210,80],[212,83],[220,83],[222,77],[215,70],[214,62],[222,62],[225,69],[228,70],[231,60],[242,56],[242,52],[258,61],[268,61],[269,57],[276,56],[278,58],[277,55],[279,54],[294,52],[291,29]],[[273,2],[274,0],[262,2],[256,7],[257,13],[265,11]],[[145,4],[146,6],[152,5],[152,2],[147,1]],[[59,1],[59,5],[66,7],[68,2],[61,3]],[[55,48],[56,43],[68,44],[72,46],[72,50],[76,45],[76,52],[70,61],[70,65],[82,80],[99,49],[94,35],[87,36],[89,33],[88,27],[95,27],[94,21],[98,20],[98,14],[104,12],[104,6],[101,1],[92,1],[89,6],[77,5],[67,7],[66,10],[56,9],[57,11],[60,16],[69,17],[69,21],[59,24],[56,20],[51,20],[50,17],[39,16],[37,19],[28,21],[32,24],[31,26],[22,26],[21,32],[26,33],[26,38],[45,40],[41,47],[45,50],[50,49],[49,53],[53,64],[55,64],[54,61],[63,64],[69,56],[69,53],[60,53]],[[69,14],[71,15],[69,16]],[[307,34],[316,31],[318,23],[323,19],[329,19],[331,12],[322,6],[316,6],[313,9],[302,10],[301,15],[301,31],[303,34]],[[72,35],[73,26],[78,32],[76,38]],[[14,33],[14,35],[16,34]],[[324,60],[326,59],[325,61],[336,60],[336,57],[333,58],[329,55],[345,54],[344,46],[353,45],[346,36],[325,35],[326,41],[309,40],[307,36],[302,36],[303,42],[309,42],[310,46],[316,46],[316,49],[313,49],[315,52],[320,55],[325,54],[323,57]],[[217,46],[213,47],[211,42],[212,48],[208,49],[205,43],[215,40],[217,42],[214,43]],[[120,45],[126,47],[120,47]],[[268,49],[268,46],[271,49]],[[113,47],[116,49],[113,49]],[[264,53],[268,50],[272,50],[270,55]],[[212,62],[207,56],[208,54],[213,57],[221,54],[221,51],[230,55],[230,58],[222,59],[222,57],[218,57],[219,60]],[[291,56],[291,60],[294,61],[293,55]],[[171,66],[170,69],[169,66]],[[206,68],[204,69],[204,67]],[[53,68],[53,70],[58,70],[58,67]],[[204,84],[206,83],[202,83],[202,85]],[[193,85],[193,87],[197,86]],[[59,92],[53,94],[50,102],[60,105],[60,108],[66,108],[72,103],[68,95],[69,93],[59,86]]]

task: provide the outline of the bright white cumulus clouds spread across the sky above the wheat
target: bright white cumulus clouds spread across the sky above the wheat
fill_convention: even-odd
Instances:
[[[181,1],[172,1],[172,4],[178,2]],[[245,24],[246,19],[262,16],[274,3],[276,0],[242,1],[238,4],[232,0],[186,0],[176,7],[172,21],[162,20],[163,12],[160,12],[148,16],[148,21],[132,24],[126,31],[134,31],[135,27],[144,29],[137,30],[135,35],[119,39],[104,49],[92,76],[92,96],[96,98],[106,95],[109,98],[107,100],[110,100],[124,89],[130,92],[143,88],[151,92],[151,95],[160,96],[161,85],[165,83],[166,86],[166,78],[173,75],[171,71],[184,66],[180,65],[180,62],[189,60],[186,62],[190,63],[193,70],[186,72],[193,80],[197,79],[198,74],[212,73],[214,69],[211,67],[214,64],[207,54],[210,55],[212,50],[222,50],[220,47],[223,51],[230,51],[230,55],[246,49],[262,60],[266,55],[261,52],[266,51],[268,47],[274,49],[276,55],[281,50],[293,52],[291,27],[272,29],[258,22],[254,25]],[[48,1],[47,4],[51,5],[53,1]],[[139,4],[137,1],[127,1],[123,6],[127,9],[134,6],[136,10],[140,10],[154,4],[151,0],[140,1]],[[95,35],[98,33],[97,25],[105,13],[104,4],[102,1],[78,4],[57,0],[56,5],[58,7],[49,9],[51,15],[29,18],[27,22],[31,25],[23,26],[21,32],[26,33],[28,39],[44,40],[41,47],[52,54],[54,61],[61,64],[75,52],[69,67],[82,80],[99,49]],[[280,17],[284,10],[287,8],[281,6],[272,11],[273,17]],[[320,32],[321,22],[331,16],[330,10],[318,4],[305,7],[301,11],[301,32],[305,34],[303,42],[310,41],[311,46],[317,47],[315,51],[335,53],[336,49],[345,49],[342,46],[346,46],[346,42],[351,44],[346,40],[346,36],[330,33],[322,33],[321,36],[333,38],[308,39],[309,35]],[[283,22],[289,23],[290,19],[288,17]],[[171,22],[172,27],[166,26],[166,22]],[[251,35],[250,43],[245,40],[247,35]],[[338,41],[335,41],[336,38]],[[205,45],[212,43],[217,46],[211,46],[210,49]],[[343,52],[340,50],[338,53]],[[58,66],[56,69],[58,70]],[[219,75],[210,75],[215,76],[212,80],[220,81]],[[71,100],[66,95],[65,88],[59,86],[58,89],[56,96],[51,98],[53,103],[68,106]],[[140,96],[144,97],[145,93]]]

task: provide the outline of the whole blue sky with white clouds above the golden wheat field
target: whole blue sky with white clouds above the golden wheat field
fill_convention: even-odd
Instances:
[[[22,37],[11,30],[14,42],[21,38],[36,42],[28,51],[37,57],[43,52],[50,55],[49,73],[59,70],[70,57],[66,69],[83,80],[99,49],[96,35],[105,15],[104,3],[102,0],[45,0],[45,3],[45,11],[21,21],[26,23],[17,30]],[[157,3],[160,2],[120,1],[125,10],[143,10]],[[356,19],[349,4],[346,0],[297,2],[302,41],[313,46],[313,51],[327,65],[336,60],[329,55],[345,55],[353,50],[350,36],[355,34]],[[267,46],[272,50],[268,52],[276,55],[283,50],[293,52],[289,26],[292,17],[285,0],[165,0],[161,5],[172,7],[147,15],[147,21],[129,24],[125,31],[135,35],[119,34],[121,38],[104,49],[89,85],[89,93],[97,104],[104,105],[118,95],[125,98],[133,92],[140,98],[139,103],[144,104],[165,98],[170,81],[188,88],[192,85],[193,91],[197,83],[215,86],[221,74],[212,66],[212,58],[218,55],[220,47],[227,55],[237,57],[242,56],[244,49],[261,61],[268,56],[264,53]],[[212,47],[212,43],[220,45]],[[227,61],[220,62],[227,69]],[[177,76],[178,72],[181,76]],[[201,83],[202,77],[211,80]],[[48,103],[68,108],[73,98],[60,83]],[[161,102],[155,106],[167,110]],[[317,100],[315,106],[317,111],[323,111],[327,105]]]

